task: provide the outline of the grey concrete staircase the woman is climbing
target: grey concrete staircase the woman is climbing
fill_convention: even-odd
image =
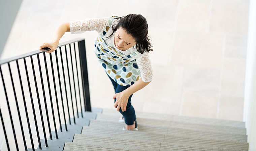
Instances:
[[[139,131],[123,131],[120,116],[103,109],[64,151],[248,151],[245,122],[136,112]]]

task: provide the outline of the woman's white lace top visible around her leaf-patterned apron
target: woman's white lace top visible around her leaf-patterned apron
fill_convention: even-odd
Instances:
[[[70,21],[69,22],[69,27],[70,27],[70,33],[71,34],[80,34],[84,33],[86,31],[97,31],[99,34],[102,34],[104,29],[107,26],[108,20],[110,17],[105,17],[105,18],[88,18],[88,19],[83,19],[83,20],[75,20],[75,21]],[[118,22],[116,21],[115,24]],[[114,35],[111,36],[110,38],[106,39],[105,37],[108,37],[113,30],[111,30],[111,27],[107,31],[106,35],[104,36],[105,42],[112,48],[115,48],[116,51],[123,53],[125,55],[129,55],[134,51],[137,51],[136,48],[129,48],[125,51],[119,50],[116,48],[114,44]],[[139,70],[141,72],[141,79],[143,82],[150,82],[153,80],[153,70],[152,70],[152,65],[149,57],[149,52],[144,52],[143,54],[138,54],[135,55],[134,57],[130,58],[131,60],[136,60],[136,63],[139,67]]]

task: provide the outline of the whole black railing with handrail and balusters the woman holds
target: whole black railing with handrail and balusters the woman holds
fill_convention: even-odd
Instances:
[[[76,48],[75,48],[75,43],[77,42],[78,44],[78,56],[76,55]],[[73,46],[74,46],[74,50],[71,51],[71,44],[73,43]],[[67,54],[67,45],[69,45],[69,52],[70,52],[70,60],[68,59],[68,54]],[[62,56],[62,50],[61,50],[61,47],[64,46],[65,47],[65,50],[64,51],[64,55],[66,57],[65,61],[66,61],[66,66],[64,67],[63,65],[63,56]],[[69,124],[71,124],[71,121],[70,121],[70,113],[69,113],[69,102],[71,100],[71,104],[72,104],[72,112],[73,112],[73,119],[74,119],[74,123],[75,123],[75,108],[73,106],[73,95],[74,94],[74,97],[75,97],[75,105],[76,105],[76,113],[77,113],[77,118],[79,118],[79,115],[78,115],[78,105],[77,105],[77,101],[80,101],[80,108],[81,109],[81,117],[83,117],[83,108],[82,108],[82,105],[84,105],[84,111],[91,111],[91,104],[90,104],[90,94],[89,94],[89,83],[88,83],[88,71],[87,71],[87,60],[86,60],[86,50],[85,50],[85,40],[82,39],[82,38],[76,38],[76,39],[73,39],[73,40],[70,40],[70,41],[67,41],[67,42],[64,42],[64,43],[61,43],[59,44],[59,46],[57,47],[57,49],[55,50],[55,55],[52,56],[52,53],[50,54],[50,62],[51,62],[51,70],[52,71],[49,71],[48,69],[48,66],[47,66],[47,61],[46,61],[46,55],[45,55],[45,52],[48,51],[49,49],[40,49],[40,50],[36,50],[36,51],[32,51],[32,52],[29,52],[29,53],[26,53],[26,54],[22,54],[22,55],[19,55],[19,56],[15,56],[15,57],[11,57],[11,58],[8,58],[8,59],[4,59],[4,60],[0,60],[0,72],[1,72],[1,79],[2,79],[2,83],[3,83],[3,89],[5,91],[5,98],[6,98],[6,102],[7,102],[7,106],[8,106],[8,112],[9,112],[9,120],[11,121],[11,128],[12,128],[12,132],[13,132],[13,136],[10,136],[8,135],[6,132],[6,127],[5,127],[5,124],[4,124],[4,118],[6,118],[6,116],[3,116],[3,110],[1,110],[1,107],[0,107],[0,116],[1,116],[1,122],[2,122],[2,128],[3,128],[3,132],[4,132],[4,138],[5,138],[5,143],[6,143],[6,146],[7,146],[7,150],[11,150],[11,147],[14,147],[14,146],[10,146],[9,144],[9,141],[8,141],[8,138],[9,137],[14,137],[14,141],[15,141],[15,148],[16,150],[18,151],[20,149],[19,147],[19,143],[18,141],[21,140],[21,139],[17,139],[17,133],[19,133],[19,131],[15,131],[15,129],[17,128],[14,128],[14,125],[18,125],[17,122],[20,122],[20,128],[21,128],[21,133],[22,133],[22,137],[23,137],[23,143],[24,143],[24,147],[25,147],[25,150],[27,151],[27,141],[30,141],[31,142],[31,147],[32,147],[32,150],[34,151],[35,150],[35,147],[34,145],[34,141],[33,139],[33,132],[31,130],[31,123],[30,123],[30,118],[33,118],[34,122],[35,122],[35,129],[36,129],[36,138],[38,140],[38,146],[39,146],[39,149],[42,149],[42,144],[41,144],[41,141],[40,141],[40,135],[39,135],[39,131],[43,131],[43,139],[45,141],[45,147],[48,146],[48,143],[47,143],[47,139],[46,139],[46,130],[45,130],[45,125],[46,122],[44,121],[43,119],[43,114],[46,114],[46,119],[47,119],[47,125],[48,125],[48,129],[49,129],[49,135],[50,135],[50,140],[53,140],[53,137],[52,137],[52,133],[51,133],[51,124],[54,125],[54,130],[55,130],[55,135],[56,135],[56,139],[58,139],[58,133],[57,133],[57,125],[56,125],[56,120],[55,120],[55,114],[54,114],[54,110],[56,111],[56,108],[57,108],[57,113],[58,113],[58,119],[59,120],[59,126],[60,126],[60,131],[62,132],[62,125],[61,125],[61,116],[60,116],[60,109],[59,108],[59,99],[61,99],[61,105],[62,105],[62,110],[63,110],[63,116],[64,116],[64,122],[65,122],[65,130],[68,131],[68,127],[67,127],[67,123],[66,123],[66,111],[65,111],[65,105],[67,107],[67,112],[68,112],[68,118],[69,118]],[[61,62],[58,62],[58,55],[57,55],[57,52],[60,52],[60,57],[61,57]],[[74,53],[74,55],[72,55],[72,53]],[[43,78],[43,75],[42,75],[42,67],[41,67],[41,61],[40,61],[40,57],[39,55],[43,55],[43,61],[44,61],[44,65],[45,65],[45,74],[46,74],[46,80],[47,80],[47,85],[48,87],[44,84],[46,84],[44,82],[44,78]],[[35,66],[35,62],[34,62],[34,59],[36,58],[33,58],[33,56],[36,55],[36,58],[37,58],[37,64],[38,64],[38,68],[36,68]],[[30,57],[30,61],[26,58]],[[47,56],[48,57],[48,56]],[[56,64],[53,63],[53,57],[55,57],[56,59]],[[77,63],[77,59],[79,59],[79,63],[80,63],[80,68],[78,67],[78,63]],[[73,61],[75,60],[75,63],[73,63]],[[11,67],[10,65],[10,62],[12,61],[15,61],[16,62],[16,68],[17,68],[17,71],[18,71],[18,75],[19,75],[19,78],[15,79],[13,78],[13,73],[12,73],[12,70],[14,70],[14,67]],[[20,65],[19,65],[19,61],[23,61],[24,62],[24,68],[25,71],[26,71],[26,74],[24,75],[26,77],[26,81],[28,83],[28,87],[24,87],[23,85],[23,82],[24,79],[22,80],[22,74],[21,74],[21,71],[20,71]],[[28,64],[28,62],[31,63],[31,66]],[[72,70],[69,70],[69,65],[70,65],[70,62],[71,62],[71,68]],[[59,64],[60,63],[60,64]],[[5,78],[5,74],[3,74],[2,72],[2,66],[4,64],[8,64],[8,69],[9,69],[9,77],[11,79],[11,86],[12,86],[12,90],[13,90],[13,95],[14,95],[14,100],[15,100],[15,103],[16,103],[16,109],[17,109],[17,112],[18,112],[18,116],[19,116],[19,120],[18,121],[15,121],[12,119],[12,112],[11,112],[11,107],[10,107],[10,104],[9,104],[9,101],[11,100],[8,100],[8,95],[10,94],[7,94],[7,87],[5,85],[5,82],[7,81],[7,78]],[[61,65],[61,67],[59,68],[59,65]],[[54,66],[57,67],[57,72],[58,72],[58,78],[55,78],[55,76],[57,76],[54,72]],[[75,66],[75,67],[74,67]],[[65,70],[64,68],[67,68],[67,73],[65,73]],[[30,70],[29,69],[32,69],[32,72],[30,73]],[[36,76],[36,72],[35,70],[36,69],[39,69],[39,74],[40,74],[40,78]],[[63,89],[62,89],[62,85],[61,85],[61,71],[60,69],[62,69],[62,72],[63,72],[63,81],[64,81],[64,87],[65,87],[65,93],[63,92]],[[81,70],[81,80],[79,80],[79,74],[78,74],[78,69]],[[71,77],[71,73],[70,71],[72,71],[72,77]],[[49,74],[52,74],[52,78],[53,80],[50,81],[50,78],[49,78]],[[74,73],[76,72],[76,73]],[[5,72],[4,72],[5,73]],[[33,78],[29,77],[29,75],[32,75],[33,74]],[[65,78],[65,74],[68,74],[68,79]],[[75,75],[76,74],[76,75]],[[8,75],[6,75],[8,76]],[[75,80],[77,77],[77,81]],[[73,79],[72,79],[73,78]],[[34,79],[34,80],[33,80]],[[72,79],[72,82],[73,82],[73,89],[71,87],[71,79]],[[37,80],[39,80],[41,83],[41,89],[39,88],[39,83],[37,82]],[[69,83],[69,89],[70,89],[70,98],[68,97],[68,91],[67,91],[67,87],[66,87],[66,80],[68,81]],[[32,86],[33,84],[31,83],[32,81],[34,81],[34,85],[35,86]],[[59,88],[60,88],[60,98],[57,96],[58,93],[57,93],[57,86],[56,86],[56,82],[59,81]],[[62,81],[62,82],[63,82]],[[53,88],[51,88],[51,82],[53,82],[54,84],[54,92],[55,93],[52,93],[51,89],[53,90]],[[80,84],[79,82],[81,82],[82,84],[82,91],[83,91],[83,102],[84,104],[82,104],[82,101],[81,101],[81,93],[80,93]],[[21,92],[22,92],[22,99],[23,99],[23,104],[24,104],[24,109],[25,109],[25,113],[26,115],[22,115],[21,112],[20,112],[20,108],[19,108],[19,105],[18,105],[18,99],[17,99],[17,88],[18,87],[15,87],[14,84],[17,83],[20,85],[20,89],[21,89]],[[76,91],[76,88],[78,87],[78,92],[79,92],[79,99],[77,100],[77,91]],[[32,92],[32,89],[35,89],[36,91],[36,94],[33,94]],[[19,88],[18,88],[19,89]],[[27,106],[27,100],[28,98],[25,97],[25,94],[24,94],[24,90],[26,91],[28,89],[28,92],[29,92],[29,96],[30,96],[30,101],[31,101],[31,107],[28,107]],[[46,94],[47,91],[45,91],[46,89],[49,90],[49,98],[50,98],[50,103],[51,103],[51,108],[48,108],[47,107],[47,98],[46,96],[48,96],[48,94]],[[39,92],[42,92],[43,94],[43,98],[40,98],[40,95],[39,95]],[[72,91],[74,93],[72,93]],[[36,95],[37,97],[36,98],[33,98],[33,95]],[[56,105],[57,107],[55,108],[55,106],[53,105],[53,97],[52,95],[55,95],[55,99],[56,99]],[[63,97],[63,95],[66,95],[66,97]],[[63,99],[66,98],[66,101],[67,101],[67,104],[64,104],[64,101]],[[37,101],[36,101],[37,99]],[[43,99],[44,101],[44,106],[45,106],[45,111],[42,110],[42,107],[41,107],[41,101],[40,99]],[[34,104],[35,102],[38,103],[38,107],[39,107],[39,113],[40,113],[40,116],[38,115],[37,116],[37,113],[36,113],[36,110],[35,110],[35,105]],[[49,110],[48,109],[51,109],[52,110],[52,115],[51,118],[53,119],[53,121],[50,120],[50,116],[49,116]],[[33,111],[33,117],[29,117],[29,113],[28,113],[28,110],[32,110]],[[23,116],[25,116],[24,118],[22,118]],[[14,117],[14,116],[13,116]],[[27,120],[27,128],[24,127],[23,123],[22,123],[22,119],[25,119]],[[40,118],[40,119],[37,119],[37,118]],[[32,121],[33,121],[32,120]],[[39,123],[38,121],[39,120],[41,122],[41,127],[39,126]],[[24,130],[25,129],[28,129],[29,131],[29,136],[30,136],[30,140],[26,140],[25,138],[25,133],[24,133]],[[2,131],[0,129],[0,131]],[[48,133],[48,132],[47,132]],[[0,149],[1,150],[4,150],[3,148],[1,148],[0,146]]]

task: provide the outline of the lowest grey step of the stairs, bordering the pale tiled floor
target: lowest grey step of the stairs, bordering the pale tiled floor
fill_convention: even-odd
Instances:
[[[223,119],[211,119],[202,117],[190,117],[190,116],[179,116],[170,114],[160,114],[160,113],[149,113],[149,112],[135,112],[136,118],[149,118],[176,122],[186,122],[195,124],[205,124],[205,125],[219,125],[219,126],[229,126],[229,127],[240,127],[245,128],[245,122],[233,121],[233,120],[223,120]],[[102,114],[116,114],[121,115],[116,109],[103,108]]]

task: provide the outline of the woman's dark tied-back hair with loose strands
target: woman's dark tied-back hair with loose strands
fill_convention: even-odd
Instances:
[[[119,22],[117,25],[112,26],[113,33],[121,27],[135,39],[135,45],[139,53],[153,51],[148,36],[148,23],[145,17],[140,14],[129,14],[125,17],[116,17],[115,19],[118,19]],[[113,33],[107,38],[110,38]]]

